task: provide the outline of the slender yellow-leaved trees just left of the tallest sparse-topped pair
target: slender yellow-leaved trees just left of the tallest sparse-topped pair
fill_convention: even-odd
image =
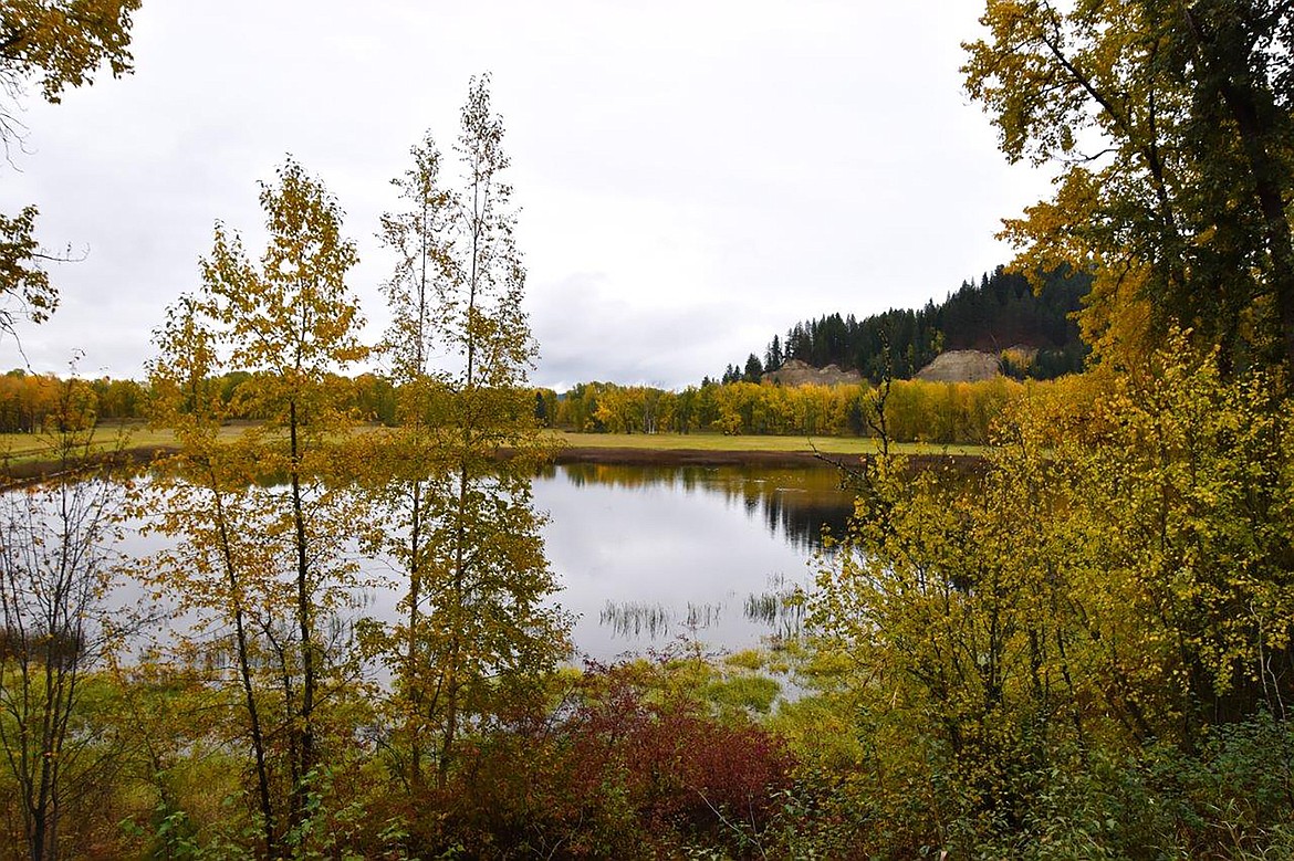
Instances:
[[[273,856],[285,833],[265,739],[286,739],[287,825],[302,834],[321,764],[317,710],[345,681],[342,658],[349,655],[329,649],[321,631],[322,621],[353,605],[358,587],[345,549],[357,531],[355,494],[329,481],[347,474],[334,438],[349,428],[331,379],[366,349],[345,284],[357,255],[342,235],[335,199],[291,159],[260,199],[268,243],[259,264],[217,224],[202,290],[159,332],[153,377],[170,398],[163,420],[185,443],[185,482],[168,487],[159,524],[182,537],[162,558],[166,578],[181,608],[232,631]],[[220,412],[206,387],[230,370],[250,374],[232,409],[261,420],[225,445],[215,440]],[[255,484],[265,480],[286,486]],[[267,727],[258,686],[270,680],[280,714]]]

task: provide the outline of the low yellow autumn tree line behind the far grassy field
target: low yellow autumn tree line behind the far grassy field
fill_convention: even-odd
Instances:
[[[400,405],[414,388],[448,397],[443,383],[413,385],[386,374],[324,375],[336,410],[355,423],[384,428],[408,427]],[[221,421],[238,425],[268,418],[264,405],[247,392],[267,381],[263,374],[229,371],[203,385],[219,401]],[[41,433],[57,416],[57,401],[69,383],[54,375],[12,371],[0,376],[0,433]],[[158,393],[135,380],[74,379],[91,398],[91,418],[98,423],[150,415]],[[1048,383],[1053,385],[1056,383]],[[1035,384],[1036,385],[1036,384]],[[992,421],[1008,403],[1029,389],[1009,379],[983,383],[927,383],[897,380],[890,390],[890,428],[895,441],[982,443]],[[723,433],[791,436],[873,436],[867,423],[876,392],[870,385],[776,387],[738,380],[707,383],[673,392],[642,385],[581,383],[558,394],[525,389],[528,415],[546,428],[576,433]]]

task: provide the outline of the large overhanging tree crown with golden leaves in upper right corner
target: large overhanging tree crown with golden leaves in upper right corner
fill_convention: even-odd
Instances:
[[[1005,222],[1022,271],[1096,273],[1088,336],[1171,328],[1225,366],[1294,363],[1294,9],[1260,0],[989,0],[967,89],[1056,194]]]

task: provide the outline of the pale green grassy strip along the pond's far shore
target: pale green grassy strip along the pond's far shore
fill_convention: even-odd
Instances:
[[[241,428],[226,427],[223,436],[234,437]],[[567,433],[550,430],[563,445],[576,449],[628,449],[634,451],[775,451],[775,452],[820,452],[832,455],[862,455],[876,452],[873,440],[857,437],[766,437],[766,436],[723,436],[718,433]],[[151,430],[142,424],[102,428],[93,446],[94,451],[115,449],[157,449],[175,443],[170,430]],[[982,446],[969,445],[920,445],[915,442],[893,443],[893,451],[902,454],[943,454],[976,455],[982,454]],[[49,460],[53,458],[50,440],[41,434],[4,433],[0,434],[0,463],[21,464]]]

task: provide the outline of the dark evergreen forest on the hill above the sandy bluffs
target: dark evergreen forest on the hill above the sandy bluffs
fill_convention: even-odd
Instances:
[[[813,367],[836,365],[858,370],[872,383],[885,376],[910,379],[945,350],[1018,350],[1005,371],[1017,379],[1049,380],[1083,368],[1087,348],[1074,319],[1091,277],[1069,266],[1053,269],[1031,283],[998,266],[978,282],[967,281],[939,304],[890,309],[855,318],[839,313],[796,323],[784,337],[774,335],[763,356],[752,353],[730,365],[723,383],[757,383],[789,359]]]

